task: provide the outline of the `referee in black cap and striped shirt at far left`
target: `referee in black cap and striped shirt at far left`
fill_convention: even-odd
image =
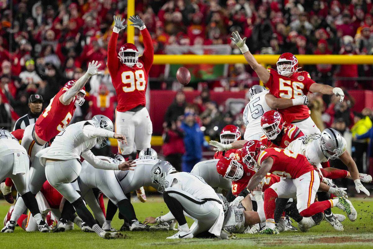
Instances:
[[[43,97],[39,94],[31,94],[31,96],[28,98],[28,107],[30,110],[27,114],[23,115],[21,118],[19,118],[16,121],[16,124],[14,125],[13,131],[17,129],[25,129],[26,126],[30,124],[35,124],[36,119],[41,114],[41,109],[43,108]]]

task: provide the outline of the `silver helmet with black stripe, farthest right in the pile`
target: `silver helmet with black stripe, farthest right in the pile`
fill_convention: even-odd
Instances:
[[[347,147],[346,140],[333,128],[326,128],[321,133],[320,146],[326,158],[336,159]]]

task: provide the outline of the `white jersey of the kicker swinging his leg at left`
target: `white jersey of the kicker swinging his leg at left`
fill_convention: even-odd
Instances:
[[[68,125],[54,138],[50,149],[41,158],[60,160],[80,159],[83,152],[90,150],[97,143],[97,137],[85,136],[83,132],[85,124],[91,124],[94,127],[100,128],[96,122],[91,120]]]

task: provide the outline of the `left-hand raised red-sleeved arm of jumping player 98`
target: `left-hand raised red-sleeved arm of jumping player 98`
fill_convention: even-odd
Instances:
[[[119,59],[116,52],[116,43],[118,40],[119,32],[125,29],[127,25],[123,25],[125,20],[119,16],[114,16],[113,33],[110,36],[109,44],[107,46],[107,68],[112,76],[116,75],[119,69]]]

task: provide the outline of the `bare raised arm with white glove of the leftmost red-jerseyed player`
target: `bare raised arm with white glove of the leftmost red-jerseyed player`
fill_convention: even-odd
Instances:
[[[69,105],[73,98],[79,93],[79,91],[84,87],[85,83],[87,83],[88,79],[91,78],[93,75],[100,74],[98,72],[98,68],[101,66],[101,63],[98,64],[98,61],[92,61],[88,64],[88,69],[85,74],[77,80],[71,88],[69,88],[65,93],[63,93],[59,100],[63,105]]]

